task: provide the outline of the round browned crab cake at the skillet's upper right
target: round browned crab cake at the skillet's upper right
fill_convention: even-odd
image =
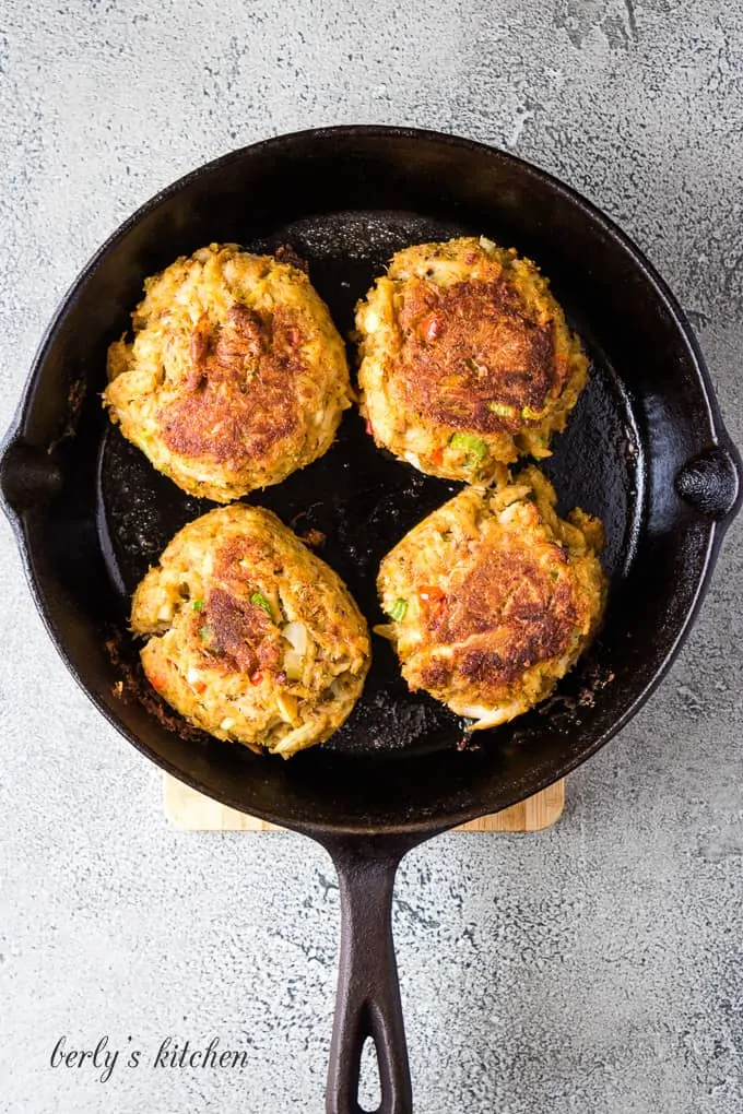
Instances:
[[[361,412],[423,472],[504,480],[548,457],[588,363],[529,260],[480,237],[398,252],[356,306]]]

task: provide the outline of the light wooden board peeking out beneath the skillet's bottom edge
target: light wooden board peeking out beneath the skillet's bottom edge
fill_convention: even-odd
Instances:
[[[538,832],[559,820],[565,805],[565,781],[527,798],[510,809],[480,817],[456,831]],[[228,809],[209,797],[197,793],[169,774],[164,775],[163,808],[170,823],[182,831],[262,832],[281,831],[275,824]]]

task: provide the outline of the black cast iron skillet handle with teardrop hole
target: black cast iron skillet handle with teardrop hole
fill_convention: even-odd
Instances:
[[[408,1048],[392,940],[392,890],[407,848],[356,839],[329,848],[341,893],[341,958],[330,1049],[326,1114],[364,1114],[361,1049],[377,1048],[382,1100],[374,1114],[411,1114]]]

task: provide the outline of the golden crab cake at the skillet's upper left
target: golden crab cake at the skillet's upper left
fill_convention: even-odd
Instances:
[[[294,258],[285,253],[285,258]],[[212,244],[145,283],[104,402],[190,495],[229,502],[330,447],[351,404],[343,342],[306,274]]]

